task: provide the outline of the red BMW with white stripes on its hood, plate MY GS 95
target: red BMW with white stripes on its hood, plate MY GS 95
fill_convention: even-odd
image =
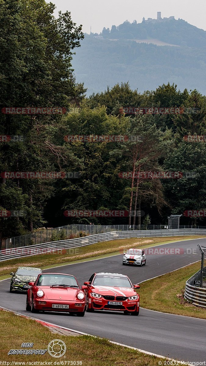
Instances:
[[[126,275],[94,273],[82,286],[86,296],[86,311],[118,310],[139,315],[139,295]]]

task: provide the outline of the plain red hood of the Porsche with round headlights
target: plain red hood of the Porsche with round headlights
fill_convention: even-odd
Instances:
[[[82,292],[80,288],[72,287],[50,287],[50,286],[38,286],[37,291],[44,291],[45,298],[48,300],[76,300],[78,292]]]

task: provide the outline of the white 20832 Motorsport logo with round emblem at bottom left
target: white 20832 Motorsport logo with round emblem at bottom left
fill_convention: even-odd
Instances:
[[[8,355],[44,355],[46,351],[50,354],[52,357],[61,357],[66,352],[66,345],[65,343],[60,339],[53,339],[49,342],[47,350],[33,349],[34,343],[22,343],[20,350],[10,350],[8,352]],[[28,347],[28,348],[25,348]]]

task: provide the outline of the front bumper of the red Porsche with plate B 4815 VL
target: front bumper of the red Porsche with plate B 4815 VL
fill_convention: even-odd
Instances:
[[[45,302],[45,304],[42,304],[42,302]],[[53,308],[52,304],[63,304],[68,305],[68,309],[58,309]],[[85,300],[80,301],[79,299],[76,299],[75,301],[65,301],[65,300],[48,300],[44,298],[34,298],[34,308],[36,310],[44,310],[44,311],[58,311],[58,312],[64,312],[64,313],[70,313],[74,311],[75,313],[82,313],[85,309]]]

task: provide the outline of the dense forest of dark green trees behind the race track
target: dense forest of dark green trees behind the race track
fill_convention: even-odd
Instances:
[[[86,97],[72,53],[83,39],[70,12],[53,16],[44,0],[3,1],[0,11],[0,95],[5,107],[65,108],[59,114],[0,114],[1,172],[79,172],[71,179],[0,178],[0,242],[35,228],[70,223],[131,224],[134,217],[65,217],[65,210],[143,210],[151,224],[169,214],[206,208],[206,97],[174,83],[139,93],[117,83]],[[12,27],[11,27],[12,25]],[[85,61],[86,62],[86,61]],[[138,88],[138,85],[136,85]],[[183,113],[124,113],[124,107],[181,107]],[[138,136],[136,141],[67,141],[68,135]],[[201,138],[187,139],[198,135]],[[141,179],[145,171],[183,173],[180,179]],[[121,179],[132,172],[134,179]],[[188,172],[194,173],[188,175]],[[138,173],[138,174],[137,174]],[[22,217],[3,217],[22,210]],[[136,218],[136,224],[140,217]],[[204,218],[184,217],[206,225]]]

